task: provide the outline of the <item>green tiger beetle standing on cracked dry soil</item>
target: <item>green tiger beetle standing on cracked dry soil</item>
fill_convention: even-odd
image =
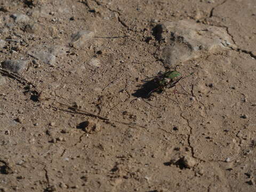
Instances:
[[[155,91],[163,92],[163,91],[165,91],[165,88],[170,89],[171,87],[174,87],[183,78],[186,78],[193,74],[194,73],[190,73],[189,75],[182,77],[181,74],[176,70],[167,71],[165,73],[160,73],[158,76],[156,76],[153,79],[153,82],[155,82],[157,84],[157,87],[154,90],[150,91],[148,93],[148,95],[150,95],[151,93],[153,93]]]

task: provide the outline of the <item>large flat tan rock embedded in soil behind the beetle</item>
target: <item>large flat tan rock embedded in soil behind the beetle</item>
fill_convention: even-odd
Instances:
[[[158,40],[167,41],[162,57],[166,66],[196,59],[223,50],[236,49],[226,28],[207,26],[192,20],[165,22],[158,25]]]

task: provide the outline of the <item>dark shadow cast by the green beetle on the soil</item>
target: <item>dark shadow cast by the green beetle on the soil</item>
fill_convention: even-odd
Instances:
[[[157,83],[153,80],[151,81],[142,81],[144,84],[138,85],[139,87],[137,90],[135,90],[132,95],[137,98],[143,98],[143,99],[148,99],[151,95],[151,92],[157,89],[158,85]],[[159,90],[156,90],[156,92],[161,92]]]

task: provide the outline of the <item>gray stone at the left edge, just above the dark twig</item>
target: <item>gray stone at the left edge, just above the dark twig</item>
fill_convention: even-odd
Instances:
[[[13,73],[20,73],[22,70],[28,68],[28,60],[5,60],[2,62],[2,67]]]

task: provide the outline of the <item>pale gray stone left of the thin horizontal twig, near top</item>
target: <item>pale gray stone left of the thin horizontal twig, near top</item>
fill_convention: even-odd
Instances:
[[[89,31],[89,30],[83,30],[83,31],[78,31],[76,34],[73,34],[71,36],[71,44],[75,48],[79,48],[84,46],[86,42],[89,42],[91,38],[93,38],[94,32]]]

